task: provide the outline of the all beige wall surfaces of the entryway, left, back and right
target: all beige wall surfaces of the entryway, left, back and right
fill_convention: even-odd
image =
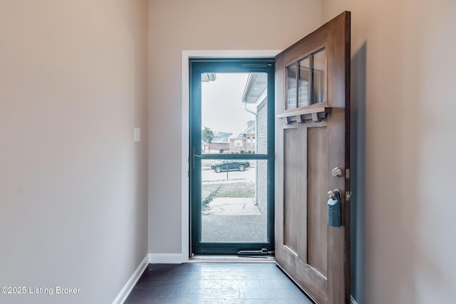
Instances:
[[[148,250],[180,253],[182,50],[281,49],[321,25],[318,0],[149,4],[147,125],[146,1],[0,2],[2,285],[71,285],[78,303],[110,303],[147,253],[147,145]],[[452,303],[456,4],[324,0],[323,21],[343,10],[354,295]]]

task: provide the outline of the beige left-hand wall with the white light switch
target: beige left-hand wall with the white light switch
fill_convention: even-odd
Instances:
[[[0,1],[0,41],[0,303],[112,303],[147,254],[147,1]]]

